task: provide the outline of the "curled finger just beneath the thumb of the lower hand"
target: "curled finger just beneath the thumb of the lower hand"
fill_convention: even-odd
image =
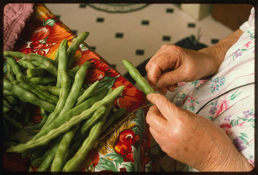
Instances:
[[[159,112],[156,105],[150,107],[147,115],[146,122],[150,125],[158,133],[162,133],[167,120],[163,117],[163,115]]]

